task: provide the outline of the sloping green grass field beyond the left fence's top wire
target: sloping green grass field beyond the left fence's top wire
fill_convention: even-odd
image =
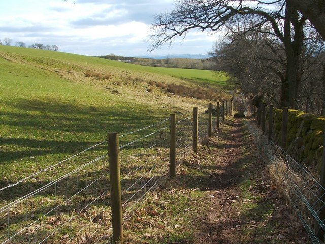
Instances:
[[[0,46],[0,67],[1,186],[102,141],[109,131],[123,134],[208,103],[158,88],[148,93],[148,81],[209,86],[220,93],[226,84],[211,71],[8,46]],[[86,77],[87,71],[111,78]]]

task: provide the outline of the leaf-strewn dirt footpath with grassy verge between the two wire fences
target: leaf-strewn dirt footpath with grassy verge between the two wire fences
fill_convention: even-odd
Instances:
[[[126,243],[309,243],[245,120],[201,142],[126,229]]]

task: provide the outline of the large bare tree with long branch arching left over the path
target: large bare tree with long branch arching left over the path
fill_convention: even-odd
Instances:
[[[254,24],[243,32],[267,26],[267,33],[283,44],[286,71],[281,82],[281,105],[296,108],[306,18],[285,0],[180,0],[172,12],[155,17],[152,49],[185,36],[191,29],[220,31],[252,20]]]

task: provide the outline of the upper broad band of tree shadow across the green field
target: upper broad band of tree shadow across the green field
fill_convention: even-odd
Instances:
[[[139,128],[144,124],[157,121],[161,114],[155,108],[131,104],[120,106],[81,106],[60,100],[42,101],[20,99],[9,104],[19,112],[2,112],[4,125],[23,127],[27,130],[59,132],[98,132],[121,131]],[[22,112],[20,112],[22,111]]]

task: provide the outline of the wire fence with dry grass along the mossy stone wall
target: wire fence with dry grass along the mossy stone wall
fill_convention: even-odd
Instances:
[[[319,176],[270,141],[255,124],[248,123],[248,127],[269,164],[272,178],[296,210],[312,243],[323,243],[319,233],[324,233],[325,223],[319,214],[325,207],[325,189],[319,184]],[[324,234],[321,235],[323,238]]]

